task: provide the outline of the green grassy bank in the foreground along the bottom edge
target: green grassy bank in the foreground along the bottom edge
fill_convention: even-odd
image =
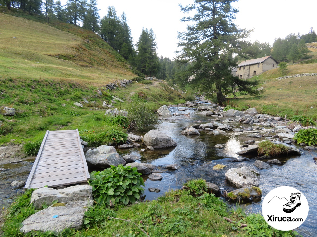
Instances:
[[[191,181],[191,184],[195,183],[196,181]],[[33,231],[23,235],[19,232],[20,223],[37,211],[33,204],[29,203],[31,191],[27,191],[17,197],[11,205],[0,234],[3,237],[147,236],[142,231],[143,229],[148,236],[153,237],[292,237],[296,235],[296,232],[274,230],[268,226],[260,214],[246,215],[241,208],[231,209],[221,199],[206,193],[198,186],[189,190],[169,191],[158,200],[151,202],[128,206],[117,205],[112,208],[96,205],[85,213],[84,226],[81,230],[66,229],[60,234]],[[228,223],[223,217],[229,217],[236,221],[236,224]],[[248,226],[242,228],[240,227],[242,223]]]

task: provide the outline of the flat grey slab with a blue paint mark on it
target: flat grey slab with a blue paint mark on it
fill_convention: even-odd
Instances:
[[[78,230],[82,227],[87,207],[91,206],[92,203],[93,201],[86,200],[64,203],[65,206],[53,204],[24,220],[20,231],[23,233],[31,230],[61,232],[65,228]],[[53,216],[57,216],[57,218],[52,218]]]

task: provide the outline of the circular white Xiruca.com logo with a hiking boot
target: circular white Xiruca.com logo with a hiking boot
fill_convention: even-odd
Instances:
[[[304,194],[296,188],[281,186],[264,197],[262,215],[275,229],[293,230],[306,220],[308,202]]]

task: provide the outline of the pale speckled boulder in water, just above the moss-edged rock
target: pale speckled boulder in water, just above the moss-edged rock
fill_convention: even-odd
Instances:
[[[245,166],[231,168],[225,175],[227,180],[238,188],[259,186],[260,175]]]

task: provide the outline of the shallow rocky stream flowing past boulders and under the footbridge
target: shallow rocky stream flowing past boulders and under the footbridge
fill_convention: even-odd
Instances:
[[[175,113],[179,112],[178,108],[179,107],[171,107],[169,110]],[[185,109],[186,111],[181,113],[190,112],[190,118],[177,116],[180,119],[161,121],[158,125],[147,127],[147,131],[157,129],[170,136],[177,143],[175,148],[155,150],[152,152],[141,152],[142,147],[138,149],[117,150],[120,155],[141,155],[141,159],[136,162],[156,165],[163,172],[161,173],[163,176],[161,181],[152,181],[148,179],[146,175],[143,176],[145,180],[144,195],[146,200],[156,199],[170,189],[181,188],[187,180],[198,178],[214,183],[220,188],[223,188],[224,191],[235,190],[235,187],[226,182],[225,172],[233,167],[246,166],[260,174],[259,187],[262,190],[262,199],[260,201],[246,204],[245,210],[247,213],[261,212],[262,200],[272,189],[279,186],[292,186],[305,194],[309,204],[307,219],[297,231],[303,236],[316,236],[317,225],[315,222],[317,217],[317,205],[315,204],[315,195],[317,194],[317,164],[314,162],[313,157],[317,156],[317,152],[303,151],[302,147],[296,145],[303,155],[278,157],[276,159],[281,161],[281,165],[271,164],[271,167],[263,170],[253,165],[256,159],[252,159],[252,157],[249,157],[251,158],[249,161],[232,162],[231,158],[238,157],[236,152],[243,149],[242,145],[244,145],[245,141],[260,141],[265,139],[265,137],[250,138],[247,137],[248,134],[264,134],[264,132],[260,133],[258,130],[244,132],[228,131],[227,134],[210,135],[204,131],[200,131],[200,136],[181,135],[184,127],[197,123],[208,123],[210,119],[215,119],[214,117],[205,116],[203,112],[194,110],[194,108],[185,107]],[[220,118],[221,121],[217,122],[222,123],[226,118],[232,119],[233,117],[223,117]],[[242,124],[238,122],[230,123],[230,126],[235,128],[241,125]],[[243,124],[243,126],[250,127],[251,125]],[[272,129],[271,127],[268,128]],[[141,133],[143,136],[144,134],[145,132]],[[216,149],[214,146],[217,144],[222,144],[224,148]],[[32,161],[22,161],[17,164],[1,166],[7,169],[0,172],[1,208],[7,208],[12,202],[11,197],[15,196],[17,192],[22,191],[21,189],[12,190],[10,184],[14,180],[27,180],[33,165]],[[204,164],[204,162],[207,161],[211,162],[207,165]],[[179,164],[181,167],[175,171],[164,169],[165,165],[168,164]],[[222,170],[213,170],[216,164],[223,164],[226,167]],[[148,188],[159,188],[161,191],[159,193],[150,192]],[[223,197],[221,196],[221,198]],[[228,203],[228,205],[232,204]],[[240,206],[244,207],[244,204]]]

